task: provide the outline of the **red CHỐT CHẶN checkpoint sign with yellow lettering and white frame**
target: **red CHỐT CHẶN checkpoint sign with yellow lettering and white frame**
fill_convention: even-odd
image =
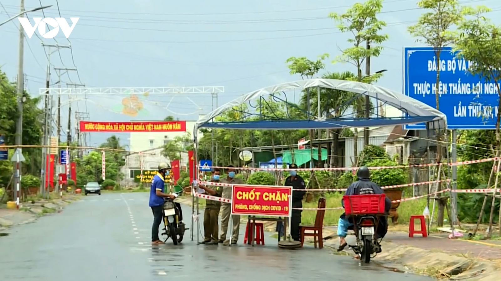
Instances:
[[[291,186],[233,185],[232,188],[232,214],[291,216]]]

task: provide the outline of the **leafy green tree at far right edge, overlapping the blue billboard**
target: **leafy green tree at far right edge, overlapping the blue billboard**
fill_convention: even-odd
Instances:
[[[466,9],[466,11],[472,16],[471,18],[465,18],[460,22],[458,28],[460,36],[455,42],[454,49],[458,51],[458,58],[472,62],[468,65],[468,71],[471,74],[478,75],[486,81],[494,82],[497,93],[500,97],[497,108],[500,108],[501,89],[499,88],[499,79],[501,79],[501,73],[499,72],[499,69],[501,69],[501,27],[493,24],[490,19],[484,16],[486,12],[490,11],[490,9],[486,7],[481,6],[476,9],[469,8]],[[495,112],[496,110],[492,111]],[[488,113],[487,116],[482,117],[493,118],[493,113]],[[501,111],[497,110],[495,118],[495,155],[499,156],[501,143],[501,134],[499,131]],[[494,172],[492,169],[489,177],[492,178],[493,174]],[[490,178],[487,185],[491,182]],[[497,181],[497,175],[495,178]],[[488,187],[490,186],[487,186],[487,188]],[[482,210],[485,206],[486,200],[487,197],[484,197]],[[488,237],[492,234],[494,206],[495,196],[492,196]],[[480,217],[478,220],[481,220],[482,213],[483,212],[480,211]],[[501,207],[498,219],[501,220]],[[501,232],[501,227],[499,231]]]

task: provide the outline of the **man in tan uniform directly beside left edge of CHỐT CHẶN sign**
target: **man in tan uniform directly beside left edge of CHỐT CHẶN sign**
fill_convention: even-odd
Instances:
[[[245,184],[240,178],[235,178],[235,169],[232,165],[228,165],[228,176],[222,178],[221,182],[230,184]],[[231,199],[231,187],[223,186],[222,198]],[[233,226],[232,235],[226,240],[226,233],[228,232],[229,217],[231,216],[231,224]],[[238,230],[240,229],[240,215],[231,215],[231,203],[221,202],[221,236],[219,243],[223,245],[236,244],[238,241]]]

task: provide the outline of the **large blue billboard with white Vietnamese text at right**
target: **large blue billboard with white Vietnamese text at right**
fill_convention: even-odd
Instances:
[[[404,47],[405,95],[436,108],[436,59],[433,47]],[[494,82],[468,72],[471,61],[458,59],[451,47],[440,52],[439,110],[449,129],[495,129],[499,95]],[[425,129],[424,123],[405,129]]]

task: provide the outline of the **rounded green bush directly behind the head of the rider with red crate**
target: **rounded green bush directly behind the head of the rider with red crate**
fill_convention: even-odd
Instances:
[[[383,167],[397,166],[398,163],[390,159],[376,159],[367,163],[367,166]],[[371,170],[371,180],[379,186],[407,183],[407,175],[403,168]]]

